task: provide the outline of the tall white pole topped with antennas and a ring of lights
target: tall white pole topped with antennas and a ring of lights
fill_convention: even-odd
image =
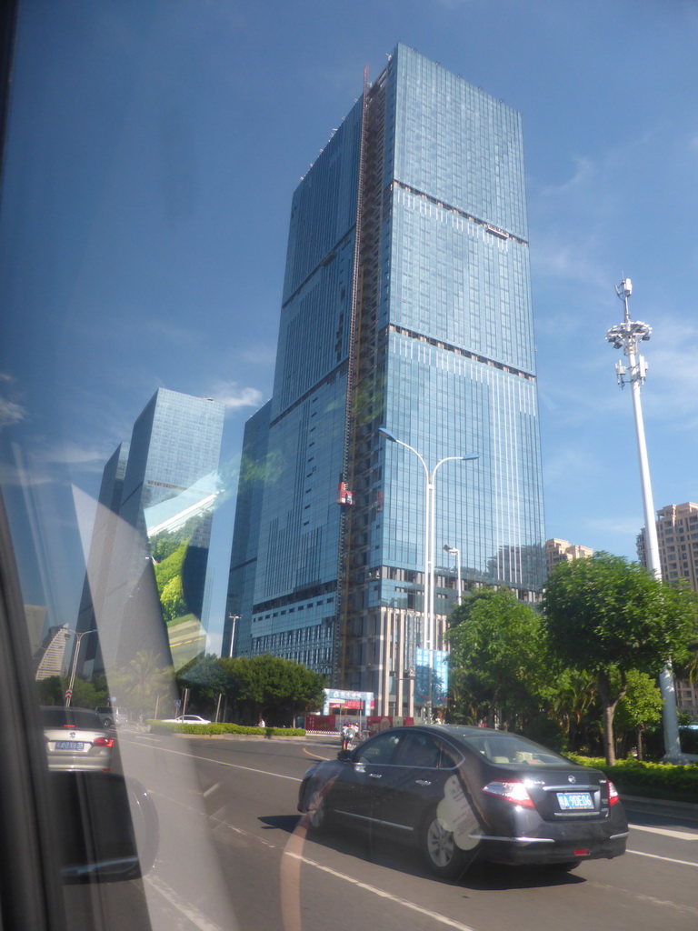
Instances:
[[[633,292],[630,278],[624,278],[620,285],[616,285],[616,293],[624,304],[623,323],[611,327],[606,339],[614,349],[623,349],[627,357],[627,366],[619,362],[616,367],[618,384],[625,384],[625,378],[630,382],[633,397],[633,412],[635,413],[635,433],[638,440],[638,458],[640,466],[640,483],[642,486],[642,503],[645,513],[645,539],[647,542],[647,567],[657,578],[662,578],[662,569],[659,560],[659,542],[657,540],[657,525],[652,501],[650,480],[650,464],[647,457],[647,442],[645,440],[645,426],[642,418],[642,404],[640,400],[640,387],[645,381],[647,363],[638,355],[638,344],[649,340],[651,327],[641,320],[631,320],[628,308],[628,298]],[[662,719],[664,722],[664,754],[666,759],[678,758],[681,755],[681,742],[678,736],[677,702],[674,692],[674,676],[671,665],[666,663],[660,673],[659,687],[663,698]]]

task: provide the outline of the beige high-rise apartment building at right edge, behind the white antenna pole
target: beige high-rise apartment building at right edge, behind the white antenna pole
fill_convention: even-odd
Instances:
[[[657,511],[657,544],[662,578],[669,582],[687,579],[698,591],[698,505],[667,505]],[[638,560],[647,567],[646,528],[638,533]],[[677,682],[677,707],[698,720],[698,686]]]

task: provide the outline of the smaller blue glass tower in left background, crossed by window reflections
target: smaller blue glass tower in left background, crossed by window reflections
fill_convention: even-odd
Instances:
[[[208,545],[218,492],[224,409],[158,388],[104,468],[77,630],[99,628],[113,661],[139,649],[139,617],[162,614],[175,668],[206,647]],[[108,623],[102,623],[104,617]],[[87,674],[103,668],[87,638]]]

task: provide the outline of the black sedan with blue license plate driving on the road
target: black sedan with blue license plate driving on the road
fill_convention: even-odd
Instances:
[[[363,826],[417,845],[453,879],[473,862],[570,870],[625,851],[627,821],[603,773],[526,737],[479,727],[382,731],[303,776],[311,830]]]

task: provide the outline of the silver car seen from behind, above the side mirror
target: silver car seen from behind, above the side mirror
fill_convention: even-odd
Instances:
[[[41,717],[49,769],[110,772],[114,732],[96,711],[45,705]]]

